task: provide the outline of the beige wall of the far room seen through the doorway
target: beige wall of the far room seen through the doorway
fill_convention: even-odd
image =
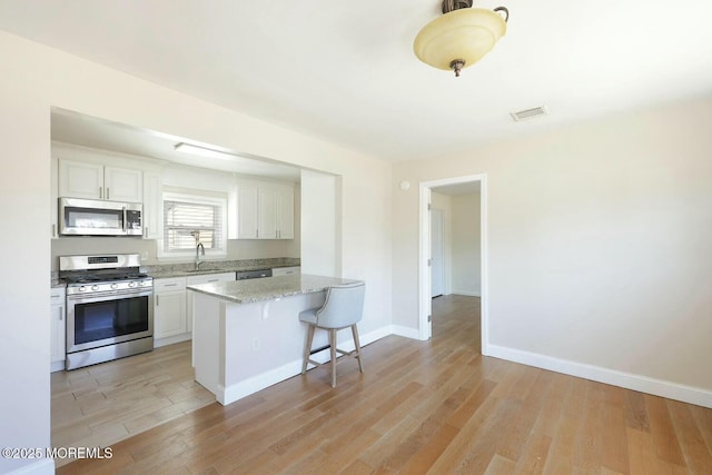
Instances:
[[[453,294],[482,295],[479,194],[452,197]]]

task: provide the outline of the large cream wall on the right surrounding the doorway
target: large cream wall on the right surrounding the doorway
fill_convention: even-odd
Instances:
[[[492,352],[712,405],[710,130],[705,97],[397,164],[392,187],[487,175]],[[417,187],[393,219],[394,324],[417,328]]]

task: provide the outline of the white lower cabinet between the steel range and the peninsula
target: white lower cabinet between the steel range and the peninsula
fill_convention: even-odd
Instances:
[[[186,278],[154,279],[154,345],[159,347],[189,339],[188,331]],[[171,339],[161,342],[164,338]]]

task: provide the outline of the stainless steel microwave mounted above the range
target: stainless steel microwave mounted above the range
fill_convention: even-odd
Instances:
[[[59,198],[60,236],[141,236],[139,202]]]

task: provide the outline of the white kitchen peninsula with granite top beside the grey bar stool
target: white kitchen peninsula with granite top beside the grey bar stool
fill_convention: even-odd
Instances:
[[[298,375],[307,330],[299,313],[320,307],[329,286],[354,281],[301,274],[188,286],[196,382],[227,405]],[[326,344],[317,331],[314,347]]]

